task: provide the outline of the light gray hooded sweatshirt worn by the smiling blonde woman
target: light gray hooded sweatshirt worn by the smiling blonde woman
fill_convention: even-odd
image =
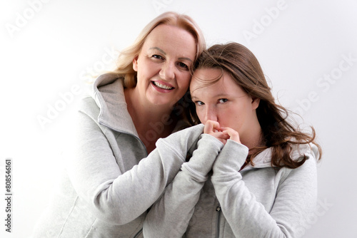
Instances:
[[[142,237],[146,210],[174,179],[203,125],[159,139],[147,155],[121,80],[104,75],[81,101],[66,170],[34,229],[39,238]]]

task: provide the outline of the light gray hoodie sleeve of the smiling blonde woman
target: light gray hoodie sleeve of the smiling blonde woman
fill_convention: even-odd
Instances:
[[[174,179],[203,132],[203,125],[197,125],[159,139],[150,155],[121,173],[99,126],[88,115],[79,116],[78,136],[66,156],[66,168],[79,199],[110,224],[126,224],[146,212]]]

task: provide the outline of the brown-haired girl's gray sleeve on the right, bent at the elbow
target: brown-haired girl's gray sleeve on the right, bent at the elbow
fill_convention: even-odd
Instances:
[[[256,200],[238,172],[248,148],[228,140],[213,165],[216,196],[236,237],[298,237],[302,222],[316,205],[316,160],[312,154],[301,167],[286,170],[270,212]]]

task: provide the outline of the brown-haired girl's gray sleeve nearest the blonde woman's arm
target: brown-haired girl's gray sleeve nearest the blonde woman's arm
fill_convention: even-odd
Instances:
[[[208,172],[223,143],[202,134],[198,147],[188,162],[184,162],[164,195],[151,207],[144,222],[144,237],[182,237],[198,202]]]

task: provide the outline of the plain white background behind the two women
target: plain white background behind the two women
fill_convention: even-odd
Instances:
[[[276,98],[303,114],[323,147],[318,210],[304,237],[357,237],[355,0],[1,0],[0,237],[30,236],[89,76],[110,68],[114,51],[164,11],[192,16],[208,46],[237,41],[255,53]],[[13,174],[11,234],[4,226],[6,158]]]

